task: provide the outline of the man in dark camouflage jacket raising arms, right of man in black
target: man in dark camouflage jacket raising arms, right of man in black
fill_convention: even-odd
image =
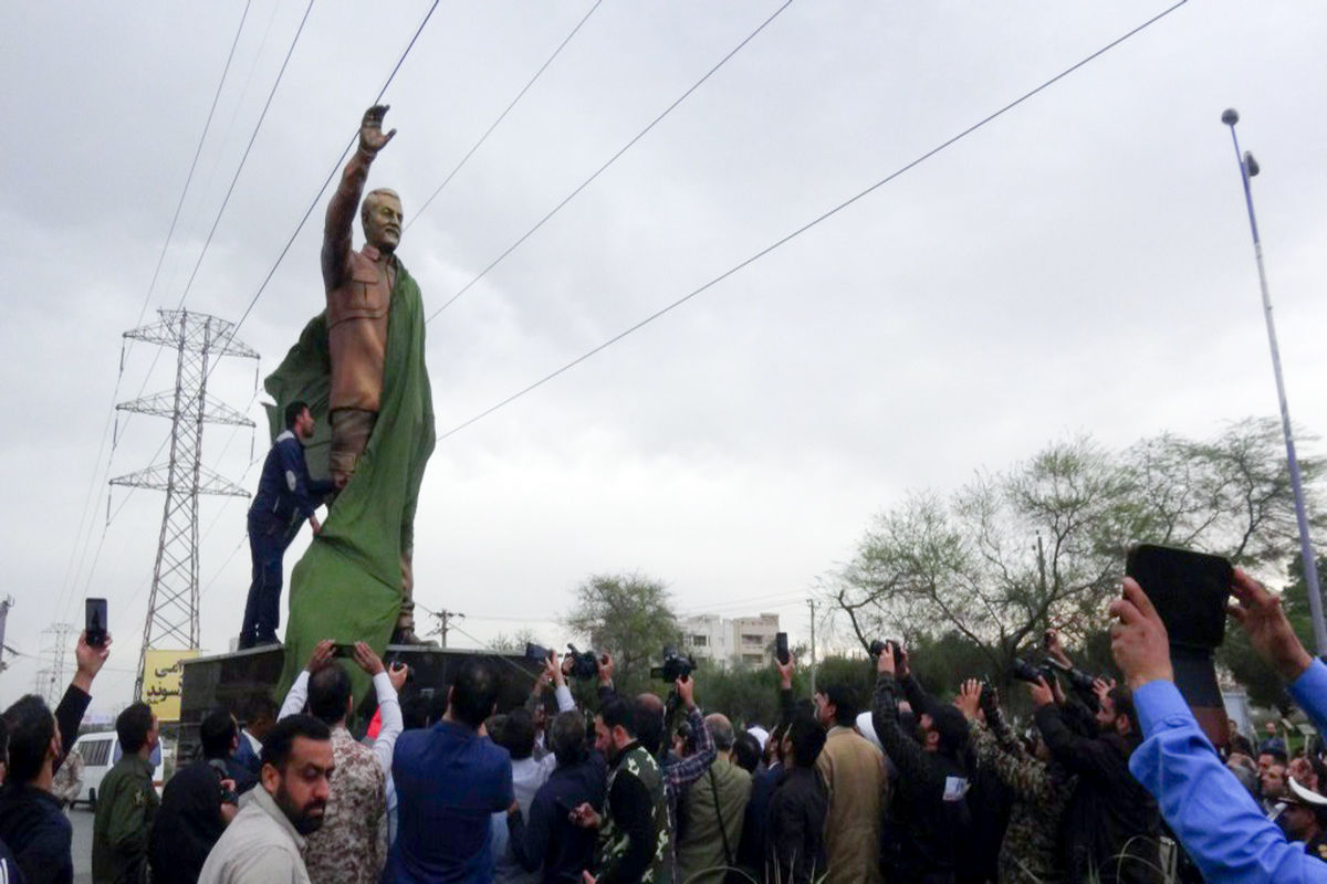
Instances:
[[[1044,681],[1028,688],[1050,691]],[[994,770],[1014,793],[999,848],[1001,884],[1063,881],[1059,834],[1078,778],[1051,758],[1044,740],[1036,741],[1034,753],[1023,747],[1005,721],[994,688],[969,680],[954,702],[967,718],[977,763]]]

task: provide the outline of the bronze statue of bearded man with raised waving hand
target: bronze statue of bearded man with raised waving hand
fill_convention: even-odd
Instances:
[[[360,193],[369,166],[397,131],[384,134],[385,105],[364,114],[360,147],[346,163],[341,183],[328,205],[322,233],[322,282],[326,289],[328,349],[332,364],[329,423],[332,481],[340,490],[356,473],[378,423],[382,399],[384,357],[387,349],[387,318],[397,285],[395,249],[401,243],[401,197],[378,188]],[[358,252],[352,243],[356,207],[366,244]],[[422,334],[422,333],[421,333]],[[427,382],[425,380],[427,387]],[[401,612],[394,641],[422,643],[414,632],[414,508],[402,520]]]

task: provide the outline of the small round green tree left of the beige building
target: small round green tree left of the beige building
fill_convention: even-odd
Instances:
[[[587,636],[596,652],[613,655],[621,693],[644,691],[650,661],[681,637],[667,586],[641,574],[587,578],[576,587],[576,604],[563,624]]]

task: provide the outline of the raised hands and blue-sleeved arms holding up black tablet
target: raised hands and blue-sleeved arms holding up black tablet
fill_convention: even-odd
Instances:
[[[1235,570],[1230,615],[1258,655],[1290,683],[1290,693],[1314,724],[1327,726],[1327,665],[1295,636],[1281,600]],[[1143,588],[1124,580],[1111,603],[1115,661],[1133,689],[1144,741],[1129,771],[1152,793],[1161,815],[1209,884],[1327,884],[1327,863],[1287,842],[1216,749],[1174,687],[1165,624]]]

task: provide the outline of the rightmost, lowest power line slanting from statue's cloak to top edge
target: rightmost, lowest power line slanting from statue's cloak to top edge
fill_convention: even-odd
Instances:
[[[1145,30],[1147,28],[1152,27],[1157,21],[1160,21],[1160,20],[1165,19],[1166,16],[1169,16],[1172,12],[1174,12],[1176,9],[1178,9],[1180,7],[1182,7],[1185,3],[1188,3],[1188,0],[1180,0],[1174,5],[1166,8],[1165,11],[1162,11],[1162,12],[1157,13],[1156,16],[1148,19],[1147,21],[1144,21],[1143,24],[1140,24],[1139,27],[1133,28],[1132,30],[1129,30],[1124,36],[1112,40],[1111,42],[1108,42],[1107,45],[1101,46],[1100,49],[1097,49],[1092,54],[1089,54],[1085,58],[1080,60],[1079,62],[1071,65],[1070,68],[1066,68],[1060,73],[1055,74],[1054,77],[1051,77],[1050,80],[1047,80],[1046,82],[1043,82],[1040,86],[1036,86],[1035,89],[1032,89],[1032,90],[1030,90],[1027,93],[1023,93],[1022,95],[1019,95],[1014,101],[1009,102],[1007,105],[1005,105],[999,110],[989,114],[987,117],[985,117],[981,121],[973,123],[971,126],[969,126],[963,131],[958,133],[957,135],[953,135],[951,138],[946,139],[945,142],[940,143],[938,146],[930,148],[929,151],[926,151],[925,154],[922,154],[917,159],[912,160],[910,163],[908,163],[908,164],[897,168],[896,171],[890,172],[889,175],[886,175],[885,178],[880,179],[878,182],[876,182],[871,187],[868,187],[868,188],[857,192],[856,195],[845,199],[844,201],[839,203],[837,205],[835,205],[829,211],[821,213],[820,216],[817,216],[817,217],[812,219],[811,221],[807,221],[802,227],[796,228],[791,233],[787,233],[786,236],[775,240],[770,245],[764,247],[763,249],[760,249],[755,254],[750,256],[748,258],[738,262],[736,265],[729,268],[727,270],[725,270],[719,276],[714,277],[709,282],[705,282],[703,285],[701,285],[701,286],[698,286],[695,289],[691,289],[690,292],[687,292],[686,294],[683,294],[677,301],[669,304],[665,307],[661,307],[660,310],[656,310],[654,313],[652,313],[650,315],[645,317],[644,319],[641,319],[636,325],[633,325],[633,326],[628,327],[626,330],[620,331],[618,334],[613,335],[612,338],[609,338],[608,341],[605,341],[604,343],[601,343],[601,345],[593,347],[592,350],[589,350],[589,351],[587,351],[587,353],[576,357],[575,359],[572,359],[567,364],[561,366],[560,368],[557,368],[555,371],[551,371],[549,374],[544,375],[543,378],[540,378],[539,380],[533,382],[532,384],[529,384],[529,386],[527,386],[527,387],[524,387],[524,388],[514,392],[512,395],[507,396],[506,399],[503,399],[498,404],[491,406],[490,408],[486,408],[484,411],[479,412],[474,417],[471,417],[471,419],[468,419],[468,420],[466,420],[466,421],[463,421],[460,424],[456,424],[455,427],[453,427],[451,429],[449,429],[445,433],[441,433],[438,436],[438,441],[442,441],[445,439],[449,439],[450,436],[454,436],[455,433],[458,433],[462,429],[470,427],[471,424],[478,423],[479,420],[483,420],[484,417],[487,417],[488,415],[494,414],[495,411],[499,411],[500,408],[504,408],[506,406],[510,406],[511,403],[516,402],[518,399],[520,399],[525,394],[533,392],[535,390],[543,387],[549,380],[553,380],[555,378],[565,374],[567,371],[571,371],[572,368],[575,368],[580,363],[585,362],[587,359],[589,359],[589,358],[592,358],[592,357],[602,353],[604,350],[609,349],[610,346],[613,346],[614,343],[617,343],[622,338],[630,335],[634,331],[638,331],[640,329],[644,329],[645,326],[648,326],[649,323],[654,322],[660,317],[662,317],[662,315],[665,315],[667,313],[671,313],[677,307],[682,306],[683,304],[686,304],[687,301],[690,301],[691,298],[694,298],[695,296],[698,296],[698,294],[701,294],[703,292],[707,292],[709,289],[714,288],[719,282],[727,280],[734,273],[738,273],[739,270],[750,266],[751,264],[755,264],[756,261],[759,261],[760,258],[763,258],[770,252],[774,252],[775,249],[778,249],[782,245],[786,245],[787,243],[791,243],[792,240],[798,239],[799,236],[802,236],[803,233],[805,233],[811,228],[819,225],[821,221],[825,221],[825,220],[833,217],[835,215],[837,215],[843,209],[848,208],[849,205],[852,205],[852,204],[857,203],[859,200],[861,200],[861,199],[869,196],[871,193],[876,192],[877,190],[880,190],[881,187],[884,187],[889,182],[894,180],[900,175],[904,175],[905,172],[916,168],[917,166],[920,166],[921,163],[926,162],[928,159],[930,159],[936,154],[940,154],[945,148],[955,144],[957,142],[962,140],[967,135],[971,135],[973,133],[975,133],[977,130],[982,129],[987,123],[998,119],[999,117],[1003,117],[1006,113],[1009,113],[1014,107],[1018,107],[1019,105],[1022,105],[1027,99],[1032,98],[1038,93],[1048,89],[1050,86],[1052,86],[1056,82],[1059,82],[1064,77],[1068,77],[1071,73],[1074,73],[1079,68],[1083,68],[1084,65],[1087,65],[1091,61],[1095,61],[1096,58],[1099,58],[1100,56],[1105,54],[1107,52],[1109,52],[1115,46],[1119,46],[1121,42],[1124,42],[1129,37],[1133,37],[1135,34],[1141,33],[1143,30]],[[476,277],[476,280],[478,280],[478,277]],[[464,292],[464,289],[462,289],[462,292]],[[459,293],[453,297],[453,301],[455,301],[456,297],[460,297]],[[449,301],[447,304],[451,304],[451,301]],[[447,304],[445,304],[438,310],[438,313],[441,313],[443,309],[446,309]],[[438,315],[438,314],[434,313],[434,315]]]

